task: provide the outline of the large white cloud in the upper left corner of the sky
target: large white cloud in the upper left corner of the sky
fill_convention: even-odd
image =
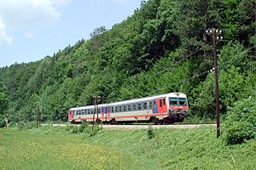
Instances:
[[[6,32],[30,30],[35,26],[54,23],[61,19],[58,8],[71,0],[0,0],[0,41],[11,43],[12,37]],[[32,37],[32,34],[24,34]]]

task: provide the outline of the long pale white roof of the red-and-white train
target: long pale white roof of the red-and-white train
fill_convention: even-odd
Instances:
[[[98,107],[105,107],[105,106],[113,106],[113,105],[125,105],[125,104],[131,104],[131,103],[137,103],[137,102],[143,102],[143,101],[148,101],[148,100],[154,100],[154,99],[159,99],[159,98],[166,98],[166,97],[180,97],[180,98],[187,98],[186,94],[182,93],[170,93],[170,94],[161,94],[161,95],[155,95],[151,97],[145,97],[145,98],[139,98],[139,99],[128,99],[124,101],[119,101],[119,102],[113,102],[109,104],[101,104],[98,105]],[[70,110],[85,110],[85,109],[94,109],[95,105],[88,105],[88,106],[82,106],[82,107],[75,107],[71,108]]]

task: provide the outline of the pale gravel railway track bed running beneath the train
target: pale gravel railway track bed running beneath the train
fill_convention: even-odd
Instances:
[[[67,124],[42,124],[50,125],[53,127],[65,127]],[[79,124],[73,126],[80,126]],[[151,125],[152,128],[197,128],[197,127],[209,127],[209,126],[216,126],[216,124],[178,124],[178,125]],[[148,125],[102,125],[103,128],[106,129],[147,129]]]

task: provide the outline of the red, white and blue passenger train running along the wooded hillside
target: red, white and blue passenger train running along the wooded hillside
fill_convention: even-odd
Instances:
[[[161,94],[101,105],[71,108],[68,121],[123,124],[154,122],[154,124],[183,122],[189,114],[187,96],[182,93]]]

